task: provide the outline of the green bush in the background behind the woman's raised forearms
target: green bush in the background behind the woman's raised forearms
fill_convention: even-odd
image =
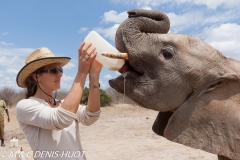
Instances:
[[[99,91],[100,91],[100,102],[101,102],[100,106],[104,107],[104,106],[110,105],[112,102],[112,98],[104,90],[99,89]],[[87,105],[88,95],[89,95],[89,88],[85,87],[83,90],[80,104]]]

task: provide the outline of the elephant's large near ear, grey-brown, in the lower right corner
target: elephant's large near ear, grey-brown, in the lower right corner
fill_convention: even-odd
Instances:
[[[177,143],[240,159],[240,82],[225,77],[192,95],[171,116],[164,136]]]

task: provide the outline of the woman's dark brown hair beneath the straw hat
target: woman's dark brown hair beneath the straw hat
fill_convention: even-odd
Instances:
[[[44,66],[45,67],[45,66]],[[37,69],[35,72],[33,72],[32,74],[30,74],[26,80],[25,80],[25,84],[26,84],[26,94],[25,94],[25,97],[26,98],[29,98],[31,96],[33,96],[36,92],[37,92],[37,88],[38,88],[38,85],[37,85],[37,81],[35,81],[33,79],[33,74],[39,74],[41,70],[44,69],[44,67],[41,67],[39,69]]]

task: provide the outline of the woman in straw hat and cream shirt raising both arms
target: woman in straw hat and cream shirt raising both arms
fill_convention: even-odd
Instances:
[[[91,125],[100,116],[99,76],[102,65],[95,60],[96,48],[83,42],[78,49],[78,72],[66,98],[51,95],[60,88],[61,67],[69,57],[55,57],[48,48],[39,48],[26,58],[17,75],[17,84],[27,88],[26,99],[18,102],[16,117],[33,150],[34,159],[86,159],[79,125]],[[79,105],[87,75],[89,99]]]

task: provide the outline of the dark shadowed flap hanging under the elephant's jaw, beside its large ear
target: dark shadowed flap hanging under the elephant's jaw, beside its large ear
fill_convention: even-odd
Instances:
[[[172,116],[173,112],[159,112],[158,116],[153,123],[152,130],[159,136],[163,136],[164,130],[168,124],[169,118]]]

